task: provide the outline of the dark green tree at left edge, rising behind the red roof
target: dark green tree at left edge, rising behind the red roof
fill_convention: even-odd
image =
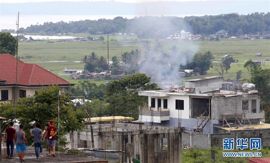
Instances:
[[[0,54],[15,55],[17,39],[9,32],[0,32]]]

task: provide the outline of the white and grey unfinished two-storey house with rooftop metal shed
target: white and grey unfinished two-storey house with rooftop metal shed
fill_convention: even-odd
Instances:
[[[218,133],[218,127],[224,125],[235,128],[264,121],[255,87],[226,91],[220,90],[222,84],[223,76],[212,76],[186,80],[185,87],[140,91],[139,95],[148,96],[148,104],[139,107],[139,120],[198,133]]]

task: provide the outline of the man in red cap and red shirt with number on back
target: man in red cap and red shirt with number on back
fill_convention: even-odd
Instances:
[[[47,146],[49,150],[49,156],[51,156],[51,147],[53,147],[53,156],[55,156],[55,135],[57,134],[57,129],[53,126],[53,120],[49,121],[49,125],[46,129],[46,133],[44,135],[43,141],[47,136]]]

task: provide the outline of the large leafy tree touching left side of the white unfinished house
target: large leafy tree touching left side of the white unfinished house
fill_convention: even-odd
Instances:
[[[157,84],[150,82],[145,74],[133,74],[121,80],[114,80],[107,89],[109,110],[118,115],[138,118],[138,106],[147,102],[145,96],[139,96],[139,90],[157,90]]]

